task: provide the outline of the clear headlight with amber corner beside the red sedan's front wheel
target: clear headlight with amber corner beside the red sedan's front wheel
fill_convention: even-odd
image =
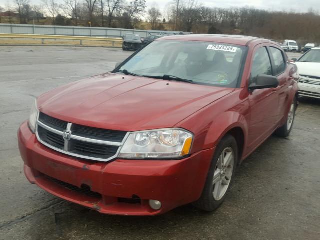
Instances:
[[[179,128],[132,132],[124,142],[119,157],[178,158],[190,153],[192,140],[192,133]]]

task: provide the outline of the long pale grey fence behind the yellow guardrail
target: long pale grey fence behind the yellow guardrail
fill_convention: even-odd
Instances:
[[[100,36],[100,37],[122,37],[126,33],[138,34],[141,37],[148,35],[181,35],[190,34],[181,31],[155,31],[134,30],[107,27],[83,27],[83,26],[49,26],[28,24],[0,24],[0,33],[11,34],[44,34],[44,35],[69,35],[69,36]]]

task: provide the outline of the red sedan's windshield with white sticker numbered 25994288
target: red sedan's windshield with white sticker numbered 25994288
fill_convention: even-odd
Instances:
[[[245,46],[224,43],[154,41],[119,71],[149,77],[171,75],[196,84],[236,87],[246,50]]]

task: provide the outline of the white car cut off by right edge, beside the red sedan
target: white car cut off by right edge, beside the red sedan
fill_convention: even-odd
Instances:
[[[304,53],[295,64],[300,74],[299,95],[320,99],[320,47]]]

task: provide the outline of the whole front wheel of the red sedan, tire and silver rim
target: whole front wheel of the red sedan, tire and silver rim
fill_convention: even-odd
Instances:
[[[193,203],[194,206],[213,211],[221,205],[232,183],[237,154],[234,137],[224,136],[215,150],[201,197]]]

